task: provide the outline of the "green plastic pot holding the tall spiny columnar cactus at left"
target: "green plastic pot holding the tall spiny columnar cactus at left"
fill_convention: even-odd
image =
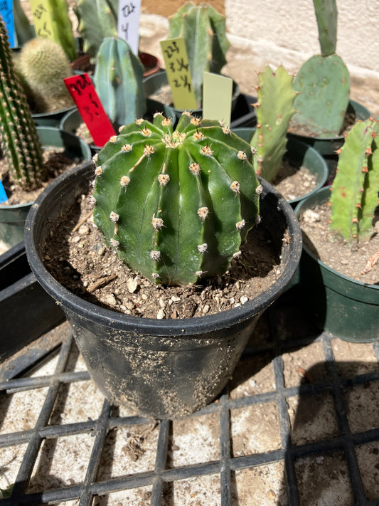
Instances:
[[[79,137],[55,127],[37,127],[37,130],[43,147],[64,147],[65,152],[72,157],[91,159],[90,147]],[[23,241],[23,226],[32,204],[33,202],[13,206],[0,205],[0,241],[7,248]]]

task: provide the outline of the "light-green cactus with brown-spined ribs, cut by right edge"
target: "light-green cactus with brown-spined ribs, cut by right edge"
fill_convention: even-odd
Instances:
[[[348,133],[331,191],[331,230],[353,244],[373,233],[379,204],[379,122],[359,121]]]

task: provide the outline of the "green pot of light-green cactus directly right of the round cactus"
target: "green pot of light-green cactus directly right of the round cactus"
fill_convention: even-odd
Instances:
[[[250,142],[252,135],[255,132],[255,128],[233,128],[232,130],[246,142]],[[289,204],[295,208],[301,200],[313,195],[322,186],[324,186],[329,176],[329,169],[326,161],[323,157],[321,157],[321,154],[319,154],[316,149],[297,139],[288,139],[287,153],[284,155],[284,159],[286,158],[294,165],[294,167],[304,165],[312,175],[316,176],[316,186],[313,190],[309,191],[309,193],[304,196],[288,201]]]

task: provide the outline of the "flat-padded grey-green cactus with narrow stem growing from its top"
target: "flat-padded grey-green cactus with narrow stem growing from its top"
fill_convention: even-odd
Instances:
[[[350,75],[336,55],[336,0],[314,0],[321,55],[312,56],[294,80],[297,110],[293,122],[319,137],[340,135],[348,107]]]

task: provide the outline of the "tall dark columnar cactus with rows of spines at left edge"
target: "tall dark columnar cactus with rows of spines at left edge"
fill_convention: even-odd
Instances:
[[[25,188],[45,178],[36,124],[14,69],[6,26],[0,16],[0,138],[11,179]]]

